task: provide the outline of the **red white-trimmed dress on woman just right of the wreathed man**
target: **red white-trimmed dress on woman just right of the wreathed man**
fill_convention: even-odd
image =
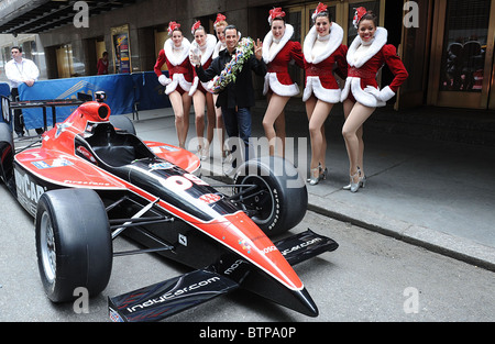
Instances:
[[[284,36],[277,42],[270,31],[263,40],[263,59],[267,66],[263,95],[268,90],[283,97],[293,97],[299,93],[299,87],[288,74],[288,65],[296,63],[304,68],[302,49],[299,42],[290,41],[294,26],[285,24]]]

